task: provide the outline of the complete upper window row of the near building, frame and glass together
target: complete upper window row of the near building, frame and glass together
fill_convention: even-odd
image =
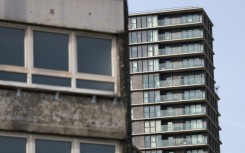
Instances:
[[[1,23],[0,82],[115,95],[116,48],[112,35]]]

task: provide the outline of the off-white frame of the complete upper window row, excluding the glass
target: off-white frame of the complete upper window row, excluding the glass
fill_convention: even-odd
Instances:
[[[20,74],[26,74],[27,80],[26,82],[16,82],[16,81],[5,81],[0,80],[0,85],[13,86],[17,88],[34,88],[55,92],[72,92],[72,93],[85,93],[85,94],[95,94],[96,95],[109,95],[109,96],[120,96],[119,93],[119,84],[118,84],[118,76],[119,75],[119,63],[118,63],[118,48],[117,48],[117,40],[116,36],[109,34],[97,34],[97,33],[89,33],[89,32],[81,32],[75,30],[67,30],[67,29],[58,29],[58,28],[47,28],[40,26],[29,26],[22,24],[13,24],[13,23],[5,23],[0,22],[1,27],[7,28],[17,28],[23,29],[25,32],[24,36],[24,67],[22,66],[11,66],[11,65],[0,65],[0,71],[2,72],[15,72]],[[68,71],[59,71],[59,70],[49,70],[42,68],[34,67],[34,31],[40,32],[51,32],[58,34],[67,34],[69,37],[68,40]],[[111,76],[107,75],[97,75],[97,74],[88,74],[88,73],[78,73],[77,71],[77,61],[76,61],[76,37],[77,36],[85,36],[92,38],[101,38],[101,39],[110,39],[112,43],[111,48]],[[32,83],[32,75],[39,75],[45,77],[58,77],[58,78],[68,78],[71,80],[70,87],[62,87],[62,86],[53,86],[53,85],[45,85],[45,84],[35,84]],[[105,91],[105,90],[97,90],[97,89],[83,89],[76,87],[76,80],[84,80],[84,81],[95,81],[102,83],[114,83],[114,91]]]

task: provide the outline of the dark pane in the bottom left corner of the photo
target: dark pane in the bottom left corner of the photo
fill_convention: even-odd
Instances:
[[[26,139],[0,136],[1,153],[26,153]]]

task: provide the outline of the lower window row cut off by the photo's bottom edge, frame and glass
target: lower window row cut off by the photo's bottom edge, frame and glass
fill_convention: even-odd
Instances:
[[[117,142],[0,133],[1,153],[116,153]]]

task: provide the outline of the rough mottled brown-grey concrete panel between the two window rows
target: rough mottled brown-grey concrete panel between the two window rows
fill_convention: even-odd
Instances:
[[[113,139],[126,138],[126,109],[113,98],[0,89],[0,129]]]

